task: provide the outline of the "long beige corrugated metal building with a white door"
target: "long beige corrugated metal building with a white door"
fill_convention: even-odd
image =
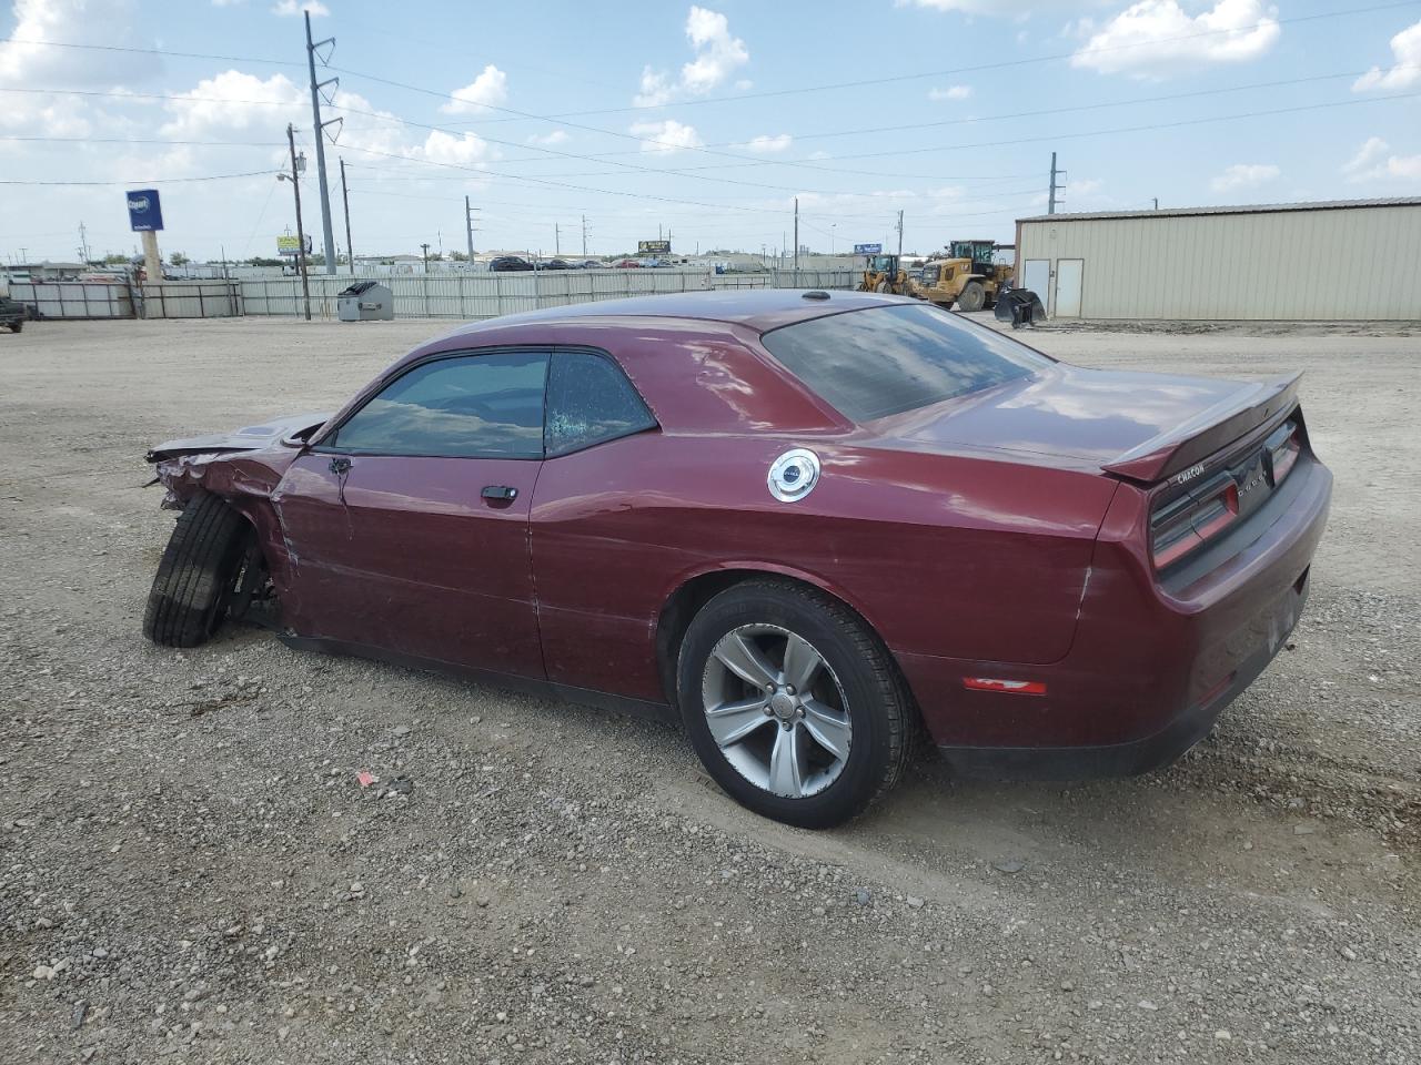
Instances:
[[[1040,214],[1016,248],[1054,318],[1421,320],[1421,199]]]

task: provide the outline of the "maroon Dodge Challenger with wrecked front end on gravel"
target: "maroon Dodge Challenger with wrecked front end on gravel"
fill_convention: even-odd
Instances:
[[[1269,663],[1331,474],[1297,375],[1080,369],[911,300],[752,291],[468,325],[335,415],[148,456],[144,630],[679,716],[739,802],[838,824],[962,774],[1161,765]]]

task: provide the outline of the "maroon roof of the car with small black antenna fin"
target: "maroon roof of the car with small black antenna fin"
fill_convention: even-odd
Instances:
[[[860,311],[868,307],[909,304],[914,300],[874,293],[831,291],[828,298],[810,297],[821,290],[803,288],[743,288],[705,293],[668,293],[665,295],[637,295],[628,300],[600,300],[597,302],[547,307],[539,311],[506,314],[483,322],[470,322],[446,335],[462,337],[482,332],[489,327],[536,325],[570,318],[689,318],[706,322],[745,325],[756,332],[767,332],[809,318],[823,318],[840,311]]]

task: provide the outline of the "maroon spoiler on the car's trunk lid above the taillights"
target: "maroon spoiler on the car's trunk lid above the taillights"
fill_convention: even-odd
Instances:
[[[1201,463],[1297,405],[1302,371],[1242,385],[1189,420],[1103,463],[1106,473],[1154,484]]]

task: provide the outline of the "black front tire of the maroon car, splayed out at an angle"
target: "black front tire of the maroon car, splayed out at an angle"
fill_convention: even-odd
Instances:
[[[237,588],[252,527],[217,496],[199,491],[173,527],[144,611],[144,635],[195,648],[222,625]]]

